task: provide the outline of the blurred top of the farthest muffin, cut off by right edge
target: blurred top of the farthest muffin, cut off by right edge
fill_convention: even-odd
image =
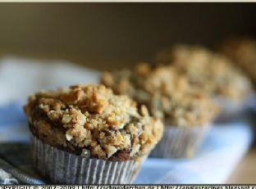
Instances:
[[[231,39],[224,43],[222,52],[245,70],[256,84],[256,41],[249,38]]]

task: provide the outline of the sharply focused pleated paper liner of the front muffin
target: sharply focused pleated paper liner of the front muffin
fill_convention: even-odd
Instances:
[[[44,178],[59,184],[130,184],[146,158],[98,160],[59,150],[33,134],[30,139],[35,168]]]

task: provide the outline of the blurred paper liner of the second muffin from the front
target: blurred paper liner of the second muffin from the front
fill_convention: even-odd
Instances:
[[[166,126],[162,140],[149,157],[191,158],[201,145],[210,125],[200,127]]]

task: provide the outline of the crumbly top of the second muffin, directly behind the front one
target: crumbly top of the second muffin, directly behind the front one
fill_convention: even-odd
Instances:
[[[171,65],[139,64],[134,70],[102,74],[102,83],[128,94],[150,113],[173,126],[203,126],[217,114],[217,106],[202,92],[194,92],[185,75]]]

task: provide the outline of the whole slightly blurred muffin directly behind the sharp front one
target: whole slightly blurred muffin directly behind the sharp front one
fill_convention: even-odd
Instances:
[[[199,147],[217,106],[202,92],[191,90],[185,75],[171,65],[143,63],[134,70],[102,74],[102,83],[118,94],[127,94],[149,113],[162,119],[165,132],[154,157],[191,157]]]

